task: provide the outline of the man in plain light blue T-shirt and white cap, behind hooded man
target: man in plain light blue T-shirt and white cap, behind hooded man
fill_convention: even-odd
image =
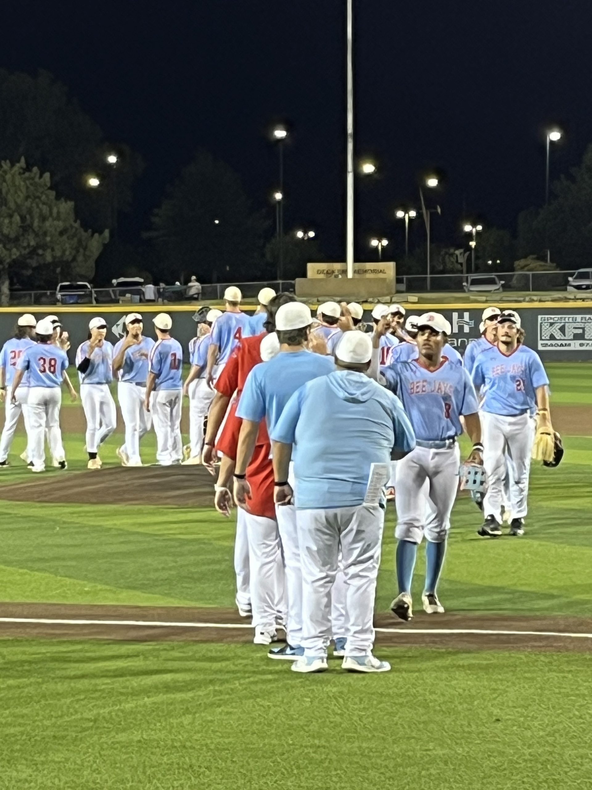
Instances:
[[[248,509],[249,506],[251,491],[246,469],[253,457],[261,420],[266,420],[268,434],[271,435],[284,406],[298,387],[335,370],[332,357],[313,354],[306,348],[312,322],[313,317],[305,304],[294,302],[280,307],[275,315],[279,354],[269,362],[253,367],[246,379],[237,408],[242,426],[234,467],[234,499],[239,507]],[[294,659],[302,654],[302,567],[296,514],[292,506],[275,508],[275,514],[286,570],[287,646],[283,651],[288,655],[281,657]],[[266,636],[268,644],[271,643],[273,631],[261,634],[261,644]],[[275,654],[269,653],[269,656],[275,657]]]

